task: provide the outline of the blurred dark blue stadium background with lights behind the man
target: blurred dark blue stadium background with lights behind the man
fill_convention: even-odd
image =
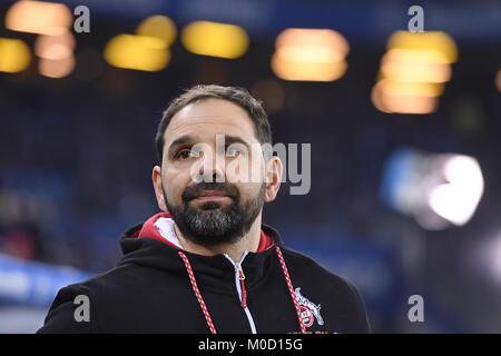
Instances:
[[[501,333],[500,1],[61,2],[0,0],[0,333],[158,211],[154,134],[195,83],[312,145],[310,192],[285,184],[264,222],[356,285],[374,332]]]

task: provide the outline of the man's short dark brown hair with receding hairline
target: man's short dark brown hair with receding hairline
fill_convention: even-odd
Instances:
[[[263,109],[262,102],[250,96],[245,88],[197,85],[185,90],[185,92],[177,98],[174,98],[164,111],[160,123],[158,125],[157,135],[155,137],[155,146],[160,166],[165,145],[164,134],[170,122],[170,119],[184,107],[204,99],[223,99],[234,102],[245,109],[254,122],[254,135],[259,144],[269,144],[269,147],[272,146],[272,129],[269,127],[268,116]]]

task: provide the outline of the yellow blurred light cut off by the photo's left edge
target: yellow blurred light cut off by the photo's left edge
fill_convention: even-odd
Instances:
[[[28,44],[18,39],[0,38],[0,71],[19,72],[31,62]]]

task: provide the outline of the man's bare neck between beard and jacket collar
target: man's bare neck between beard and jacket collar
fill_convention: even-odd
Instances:
[[[193,243],[183,236],[177,225],[174,225],[174,230],[176,233],[179,243],[183,248],[188,253],[198,254],[203,256],[215,256],[227,254],[234,261],[239,261],[244,251],[255,253],[259,246],[261,240],[261,212],[257,216],[254,224],[246,235],[244,235],[237,243],[233,244],[220,244],[212,247],[202,246]]]

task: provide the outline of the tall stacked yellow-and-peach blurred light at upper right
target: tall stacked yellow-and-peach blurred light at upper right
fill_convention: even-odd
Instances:
[[[446,33],[396,31],[381,59],[371,100],[383,112],[430,113],[452,76],[458,48]]]

